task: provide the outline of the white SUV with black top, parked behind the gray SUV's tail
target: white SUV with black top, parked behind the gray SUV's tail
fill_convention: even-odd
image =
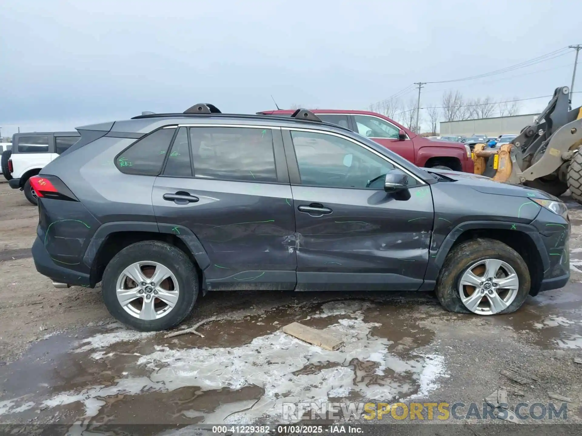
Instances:
[[[37,204],[37,195],[29,179],[36,176],[62,152],[79,140],[79,132],[16,133],[12,136],[12,150],[2,153],[3,176],[10,188],[24,191],[26,199]]]

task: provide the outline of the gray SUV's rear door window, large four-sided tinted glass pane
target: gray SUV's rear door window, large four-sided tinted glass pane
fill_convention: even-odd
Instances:
[[[195,177],[277,181],[269,128],[190,127],[190,143]]]

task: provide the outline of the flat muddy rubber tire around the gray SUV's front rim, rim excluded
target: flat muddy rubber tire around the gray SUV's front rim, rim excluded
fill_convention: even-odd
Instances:
[[[519,288],[513,302],[498,314],[512,313],[521,307],[530,292],[530,271],[523,258],[510,246],[501,241],[478,238],[462,242],[457,245],[448,256],[442,266],[437,280],[435,293],[443,308],[449,312],[473,313],[465,307],[459,295],[459,280],[471,265],[479,260],[499,259],[508,263],[516,271],[519,278]]]

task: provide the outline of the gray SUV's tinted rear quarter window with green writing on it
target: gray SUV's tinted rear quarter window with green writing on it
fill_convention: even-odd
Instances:
[[[158,176],[176,128],[161,128],[134,142],[115,159],[115,166],[125,174]]]

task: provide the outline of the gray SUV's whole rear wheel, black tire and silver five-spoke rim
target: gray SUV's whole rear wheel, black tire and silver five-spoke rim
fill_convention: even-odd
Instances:
[[[198,296],[198,277],[188,256],[175,246],[136,242],[108,263],[102,294],[109,313],[126,326],[166,330],[191,312]]]

